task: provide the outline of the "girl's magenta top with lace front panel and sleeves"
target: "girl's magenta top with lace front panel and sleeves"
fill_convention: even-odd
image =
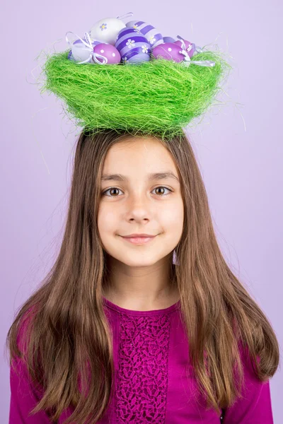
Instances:
[[[188,351],[180,300],[151,311],[127,310],[103,300],[114,341],[115,392],[97,424],[273,424],[270,382],[258,380],[246,356],[243,399],[222,411],[222,418],[221,412],[206,411],[192,368],[188,378],[185,375]],[[40,394],[23,364],[17,367],[20,378],[10,369],[9,424],[50,424],[42,411],[28,417]],[[58,424],[73,411],[67,408]]]

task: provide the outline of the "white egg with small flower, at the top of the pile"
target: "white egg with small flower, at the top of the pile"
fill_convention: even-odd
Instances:
[[[126,25],[122,20],[117,18],[105,18],[98,20],[91,28],[91,38],[107,42],[110,45],[115,45],[117,33]]]

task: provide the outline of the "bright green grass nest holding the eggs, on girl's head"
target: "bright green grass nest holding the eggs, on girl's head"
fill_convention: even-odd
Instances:
[[[67,114],[86,130],[119,129],[158,136],[182,133],[203,114],[221,89],[231,66],[216,52],[195,54],[192,60],[212,60],[200,66],[166,59],[141,64],[76,64],[69,50],[47,57],[42,71],[48,90],[64,100]]]

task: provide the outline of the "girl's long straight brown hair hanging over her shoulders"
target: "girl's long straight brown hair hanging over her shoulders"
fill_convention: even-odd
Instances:
[[[96,217],[105,155],[115,143],[133,136],[143,135],[110,129],[79,136],[61,249],[40,288],[17,313],[6,340],[10,365],[23,354],[33,382],[42,387],[42,399],[31,414],[50,411],[52,420],[58,420],[65,408],[74,406],[66,423],[83,424],[87,418],[96,423],[108,408],[114,375],[112,336],[102,299],[108,270]],[[172,265],[171,275],[180,293],[188,363],[197,373],[207,405],[219,411],[240,396],[241,386],[233,375],[236,366],[242,382],[239,346],[248,347],[262,381],[277,370],[279,346],[267,317],[221,254],[187,136],[160,141],[178,167],[185,208],[183,235],[175,247],[178,266]],[[19,349],[24,322],[26,346]],[[88,386],[87,396],[79,390],[79,378],[82,387]]]

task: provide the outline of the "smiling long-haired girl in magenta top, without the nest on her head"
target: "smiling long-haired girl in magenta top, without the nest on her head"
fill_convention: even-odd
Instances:
[[[185,132],[81,133],[62,247],[8,340],[9,424],[273,423],[277,338]]]

